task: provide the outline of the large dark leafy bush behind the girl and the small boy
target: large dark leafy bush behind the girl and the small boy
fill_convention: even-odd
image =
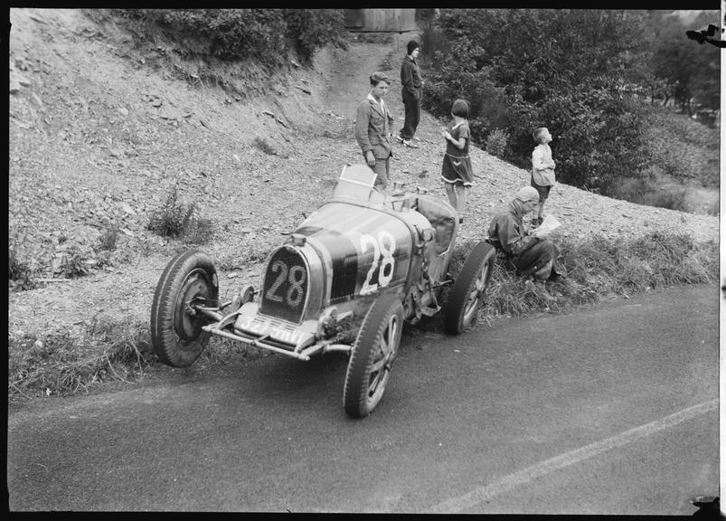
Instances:
[[[509,133],[506,158],[531,166],[532,131],[550,128],[558,177],[603,188],[646,159],[639,106],[643,14],[595,10],[441,10],[426,59],[429,108],[471,102],[479,142]],[[445,43],[442,43],[445,42]]]

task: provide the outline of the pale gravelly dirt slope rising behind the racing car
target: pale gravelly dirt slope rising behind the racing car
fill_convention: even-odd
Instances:
[[[394,131],[402,125],[398,69],[411,34],[354,38],[346,50],[319,52],[312,69],[291,64],[285,77],[251,83],[249,71],[226,66],[231,83],[245,78],[239,95],[194,78],[213,64],[161,60],[163,43],[134,46],[118,27],[99,27],[78,10],[12,9],[10,20],[11,245],[15,238],[20,259],[51,278],[53,259],[71,245],[93,261],[100,234],[121,231],[111,266],[10,292],[11,336],[73,331],[94,317],[145,323],[156,281],[182,247],[146,230],[174,186],[212,220],[203,250],[221,271],[222,296],[258,284],[260,256],[325,201],[345,164],[363,162],[353,124],[372,71],[388,69]],[[392,176],[445,198],[440,126],[422,115],[420,148],[397,146]],[[481,150],[472,162],[464,240],[482,236],[495,209],[529,182],[526,171]],[[554,188],[548,208],[565,236],[683,230],[718,240],[717,217],[567,185]]]

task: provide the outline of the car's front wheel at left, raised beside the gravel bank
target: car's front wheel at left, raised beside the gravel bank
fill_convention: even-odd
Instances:
[[[191,365],[209,342],[207,317],[194,305],[218,304],[217,270],[202,251],[183,251],[169,261],[151,305],[151,344],[166,365]]]

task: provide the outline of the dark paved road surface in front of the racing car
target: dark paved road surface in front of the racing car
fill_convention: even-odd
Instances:
[[[701,286],[414,328],[363,421],[342,355],[35,404],[10,509],[690,515],[719,493],[718,308]]]

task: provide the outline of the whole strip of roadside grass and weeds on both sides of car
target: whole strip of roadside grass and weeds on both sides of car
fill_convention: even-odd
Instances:
[[[695,243],[683,233],[653,232],[635,241],[594,236],[557,241],[565,279],[545,288],[527,288],[509,266],[495,265],[479,323],[496,317],[553,312],[630,296],[648,289],[713,282],[718,279],[718,245]],[[456,271],[474,242],[459,245]],[[425,326],[440,331],[441,317]],[[213,339],[196,364],[221,365],[261,352]],[[136,383],[159,365],[150,345],[148,325],[94,319],[81,336],[25,335],[8,338],[8,399],[87,393],[107,382]]]

